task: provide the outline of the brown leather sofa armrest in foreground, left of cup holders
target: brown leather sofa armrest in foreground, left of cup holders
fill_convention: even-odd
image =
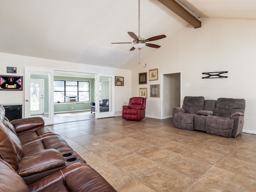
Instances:
[[[66,162],[58,150],[46,149],[21,158],[18,162],[18,174],[26,177],[65,165]]]

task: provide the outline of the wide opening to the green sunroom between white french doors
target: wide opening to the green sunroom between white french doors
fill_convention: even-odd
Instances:
[[[95,74],[54,70],[54,124],[95,118],[94,101]]]

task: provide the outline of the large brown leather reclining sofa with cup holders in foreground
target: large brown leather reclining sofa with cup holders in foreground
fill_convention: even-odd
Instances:
[[[12,120],[0,105],[0,189],[23,191],[116,190],[42,118]]]

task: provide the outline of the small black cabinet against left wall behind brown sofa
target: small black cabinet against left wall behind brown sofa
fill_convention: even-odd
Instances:
[[[9,121],[22,118],[22,104],[3,105]]]

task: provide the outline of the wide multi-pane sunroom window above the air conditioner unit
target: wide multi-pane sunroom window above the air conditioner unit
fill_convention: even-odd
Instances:
[[[54,80],[54,103],[68,102],[66,96],[78,96],[78,102],[90,101],[90,82]]]

